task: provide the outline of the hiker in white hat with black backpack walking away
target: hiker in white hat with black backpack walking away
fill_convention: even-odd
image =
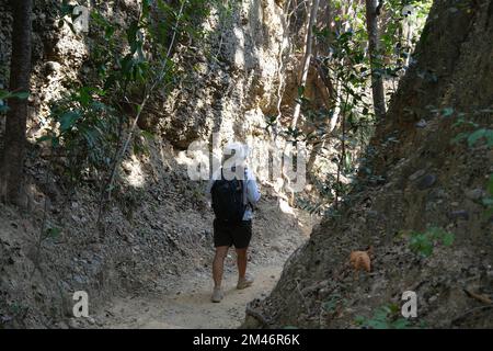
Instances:
[[[225,259],[231,246],[237,251],[238,284],[245,288],[253,284],[246,274],[248,248],[252,237],[253,205],[260,200],[254,174],[246,168],[248,147],[240,143],[223,149],[221,168],[213,174],[207,188],[215,214],[213,262],[214,292],[211,301],[223,298],[221,288]]]

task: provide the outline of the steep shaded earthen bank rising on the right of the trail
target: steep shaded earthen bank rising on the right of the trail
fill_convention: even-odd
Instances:
[[[420,165],[428,165],[428,168],[433,169],[432,172],[440,177],[440,188],[447,189],[449,194],[462,194],[465,188],[472,186],[472,184],[485,185],[484,177],[489,174],[491,166],[491,158],[488,162],[491,155],[489,149],[482,147],[470,149],[467,143],[450,145],[450,140],[460,132],[473,131],[466,125],[460,128],[455,125],[456,117],[461,112],[467,113],[467,120],[471,118],[474,123],[480,123],[481,127],[488,128],[491,124],[492,118],[488,106],[491,106],[493,97],[491,59],[493,54],[493,0],[457,1],[454,3],[461,10],[454,12],[450,11],[450,2],[449,0],[434,2],[422,38],[415,49],[415,55],[420,59],[411,65],[400,81],[386,120],[376,126],[371,151],[364,155],[370,161],[367,165],[371,169],[371,174],[382,176],[387,185],[408,179],[411,172],[420,168]],[[462,9],[467,9],[467,11]],[[423,78],[425,71],[433,72],[438,79]],[[435,116],[433,131],[436,132],[423,132],[415,127],[415,123],[421,118],[429,117],[429,105],[432,104],[437,109],[454,107],[456,116]],[[486,109],[482,110],[483,107]],[[386,143],[390,133],[399,140],[399,144],[392,147],[388,147]],[[401,162],[403,159],[406,160],[405,165]],[[376,165],[376,161],[380,166]],[[360,173],[365,174],[366,172],[362,171]],[[365,179],[366,177],[363,178],[363,181]],[[448,204],[442,204],[434,212],[425,211],[429,200],[426,195],[416,197],[414,186],[403,189],[398,196],[385,191],[386,188],[389,186],[354,186],[349,194],[351,197],[358,199],[362,205],[367,202],[368,206],[371,206],[371,211],[362,213],[362,211],[355,210],[356,202],[347,202],[340,207],[337,216],[325,216],[322,223],[313,229],[310,245],[301,247],[286,262],[276,287],[268,297],[255,306],[257,310],[262,310],[264,319],[268,320],[270,328],[279,328],[286,325],[296,325],[298,328],[307,329],[347,327],[348,322],[354,320],[351,315],[335,318],[325,318],[325,316],[322,316],[323,318],[306,318],[307,306],[319,306],[320,297],[307,293],[303,295],[305,298],[300,298],[299,292],[313,290],[316,286],[313,282],[326,280],[328,274],[333,274],[335,280],[343,278],[345,274],[343,262],[347,260],[348,252],[355,250],[355,242],[362,247],[378,242],[380,251],[388,252],[408,245],[406,242],[397,242],[392,233],[398,233],[402,228],[425,228],[429,223],[444,228],[450,224],[450,219],[446,215],[436,215],[447,213]],[[422,211],[419,213],[417,210]],[[482,212],[482,210],[479,211]],[[379,214],[379,219],[376,219],[375,214]],[[477,220],[463,220],[462,225],[454,228],[454,231],[457,242],[460,241],[461,245],[468,246],[466,249],[470,252],[483,250],[485,257],[491,261],[493,251],[491,236],[489,236],[491,233],[489,219],[486,216],[478,216]],[[382,231],[387,235],[382,236]],[[471,240],[472,237],[473,240]],[[444,260],[443,271],[445,272],[448,253],[444,252],[440,256],[442,252],[434,252],[435,254],[439,256],[436,260]],[[472,259],[475,258],[472,257]],[[413,260],[410,258],[409,262],[411,263]],[[392,261],[392,257],[386,259],[387,267],[391,267]],[[465,261],[463,267],[477,264],[474,262]],[[337,264],[341,269],[337,268]],[[427,269],[425,262],[415,271],[399,268],[392,270],[401,275],[394,279],[392,284],[381,288],[382,294],[372,302],[374,305],[387,304],[386,292],[401,288],[402,282],[426,281],[435,274]],[[466,271],[467,269],[456,270],[450,276],[457,281],[466,280],[467,273],[460,273]],[[459,274],[462,275],[458,276]],[[444,279],[449,278],[444,275]],[[293,282],[298,282],[298,285]],[[353,284],[354,287],[360,285],[358,282]],[[341,288],[344,290],[347,286],[343,284]],[[432,287],[424,286],[424,290],[422,291],[420,287],[421,294],[436,293]],[[447,295],[447,290],[448,286],[444,286],[440,294]],[[463,310],[474,308],[475,302],[465,299],[460,306],[456,306],[456,302],[455,296],[445,301],[440,299],[438,307],[445,313],[440,318],[426,320],[427,327],[493,327],[493,319],[488,313],[478,315],[478,318],[471,322],[459,322],[458,316],[463,316]],[[364,310],[368,303],[357,295],[353,296],[351,304],[352,307],[356,306],[355,310]],[[323,310],[320,313],[323,314]],[[482,316],[484,318],[481,318]],[[242,327],[246,327],[246,325]],[[263,326],[259,322],[249,324],[248,327],[260,328]]]

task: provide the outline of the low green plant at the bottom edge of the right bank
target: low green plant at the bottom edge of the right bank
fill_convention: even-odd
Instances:
[[[355,324],[370,329],[406,329],[410,327],[408,319],[399,317],[400,309],[397,305],[378,307],[371,318],[357,316]]]

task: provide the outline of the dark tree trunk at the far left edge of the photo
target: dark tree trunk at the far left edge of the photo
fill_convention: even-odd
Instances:
[[[12,58],[10,87],[14,92],[30,90],[31,77],[31,13],[32,0],[11,0]],[[10,99],[7,114],[2,160],[1,195],[10,203],[19,204],[23,181],[27,100]]]

